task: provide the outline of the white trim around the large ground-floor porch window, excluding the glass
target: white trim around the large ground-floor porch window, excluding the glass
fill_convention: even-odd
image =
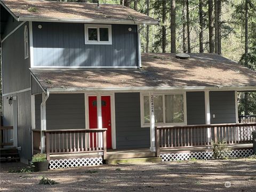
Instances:
[[[183,126],[187,125],[187,98],[186,92],[156,92],[154,95],[163,95],[163,120],[165,122],[165,102],[164,95],[167,94],[182,94],[183,95],[183,109],[184,109],[184,122],[182,123],[155,123],[156,126]],[[149,93],[140,93],[140,124],[141,127],[150,127],[150,123],[144,123],[144,96],[149,96]]]

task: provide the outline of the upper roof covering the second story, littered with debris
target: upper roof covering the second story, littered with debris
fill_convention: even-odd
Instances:
[[[1,0],[18,21],[58,21],[83,23],[123,23],[157,25],[158,20],[123,5],[44,0]],[[35,12],[29,11],[34,8]]]

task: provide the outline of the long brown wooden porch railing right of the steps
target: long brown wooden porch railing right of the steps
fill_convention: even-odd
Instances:
[[[157,126],[156,149],[209,146],[212,142],[226,140],[227,144],[252,142],[256,123],[212,124],[187,126]]]

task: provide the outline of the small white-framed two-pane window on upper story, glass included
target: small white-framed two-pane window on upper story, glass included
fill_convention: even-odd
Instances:
[[[111,45],[112,33],[111,25],[85,24],[85,44]]]

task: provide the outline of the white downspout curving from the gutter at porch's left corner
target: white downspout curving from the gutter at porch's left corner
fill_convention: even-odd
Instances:
[[[46,130],[46,108],[45,103],[49,98],[50,92],[46,91],[45,97],[43,97],[44,93],[42,94],[42,103],[41,103],[41,153],[44,153],[45,149],[45,139],[44,139],[44,132]]]

